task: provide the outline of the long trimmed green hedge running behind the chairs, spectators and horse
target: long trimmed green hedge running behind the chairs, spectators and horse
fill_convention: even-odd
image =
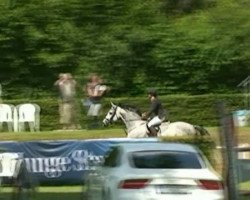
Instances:
[[[241,94],[234,95],[168,95],[161,96],[164,106],[169,111],[170,121],[186,121],[192,124],[204,126],[217,126],[216,103],[225,101],[229,111],[244,109],[244,96]],[[144,97],[127,97],[127,98],[108,98],[103,102],[103,109],[100,118],[102,119],[108,109],[110,102],[123,103],[137,106],[141,111],[146,111],[149,102],[146,96]],[[55,130],[60,129],[58,102],[56,98],[51,99],[17,99],[4,100],[4,103],[18,105],[21,103],[36,103],[41,107],[41,130]],[[81,99],[77,99],[76,112],[79,119],[79,124],[85,128],[87,123],[86,110],[81,104]],[[119,124],[118,124],[119,125]]]

